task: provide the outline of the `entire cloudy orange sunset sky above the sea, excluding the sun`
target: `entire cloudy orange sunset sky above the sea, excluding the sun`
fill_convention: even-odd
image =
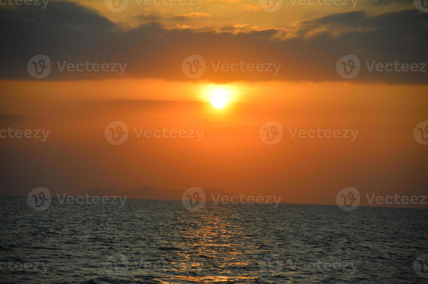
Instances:
[[[21,41],[6,34],[10,44],[5,49],[14,51],[1,58],[6,64],[0,72],[0,129],[50,129],[50,134],[45,142],[0,139],[0,194],[27,195],[39,186],[79,193],[111,184],[119,190],[141,184],[219,187],[311,204],[335,204],[345,187],[361,193],[426,194],[428,146],[415,141],[413,129],[428,120],[427,73],[369,72],[364,62],[427,62],[420,52],[426,50],[426,37],[411,26],[420,27],[426,14],[414,7],[373,1],[349,9],[288,1],[268,13],[254,1],[204,1],[196,11],[131,1],[124,12],[113,13],[104,1],[74,1],[79,6],[70,9],[63,2],[50,2],[46,9],[51,12],[35,12],[49,28],[30,30]],[[1,9],[7,15],[2,23],[13,26],[21,17],[19,11]],[[201,14],[190,15],[196,12]],[[73,13],[93,19],[79,21]],[[398,40],[390,44],[394,37],[405,38],[407,30],[385,33],[391,20],[406,17],[417,18],[407,23],[419,37],[411,53],[402,53]],[[360,34],[369,40],[360,40]],[[56,41],[42,41],[55,35]],[[361,72],[346,80],[336,73],[336,61],[352,53],[360,58]],[[45,79],[27,73],[27,61],[37,54],[52,61]],[[198,79],[189,79],[181,69],[192,54],[201,54],[207,64]],[[57,70],[56,60],[128,65],[123,76],[67,73]],[[282,65],[277,76],[215,72],[211,60]],[[225,108],[212,107],[213,88],[229,91]],[[104,129],[116,120],[127,124],[129,137],[115,146],[104,138]],[[284,129],[276,145],[259,138],[259,128],[271,120]],[[204,134],[201,141],[137,138],[134,127]],[[292,138],[288,127],[359,132],[353,142]]]

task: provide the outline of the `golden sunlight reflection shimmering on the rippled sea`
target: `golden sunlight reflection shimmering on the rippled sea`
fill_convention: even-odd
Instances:
[[[170,281],[163,279],[158,281],[168,284],[181,283],[181,281],[249,283],[256,280],[257,277],[254,274],[242,273],[248,269],[247,266],[257,261],[252,257],[257,247],[250,241],[245,242],[247,233],[244,227],[228,220],[227,214],[222,213],[220,208],[207,213],[197,213],[199,218],[195,219],[196,222],[191,225],[191,228],[184,232],[183,242],[169,243],[169,246],[179,249],[176,252],[177,258],[182,261],[172,262],[175,267],[172,271],[164,269],[164,272],[173,274],[169,278]],[[242,250],[243,246],[245,251]],[[207,266],[211,267],[208,273]],[[241,273],[235,273],[234,269],[239,269]]]

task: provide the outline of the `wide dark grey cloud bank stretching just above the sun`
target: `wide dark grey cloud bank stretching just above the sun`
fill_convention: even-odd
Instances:
[[[201,80],[343,81],[336,62],[354,54],[360,59],[361,71],[352,82],[428,82],[428,72],[369,72],[365,63],[428,62],[428,13],[416,9],[380,15],[353,11],[304,20],[290,29],[232,32],[171,29],[155,21],[123,29],[94,10],[50,1],[44,10],[34,6],[0,9],[0,24],[0,76],[6,79],[33,79],[27,62],[45,54],[52,61],[52,71],[44,80],[119,77],[117,72],[59,72],[56,63],[86,60],[127,63],[122,77],[191,80],[181,72],[181,63],[187,56],[199,54],[206,62]],[[211,61],[282,66],[277,76],[272,72],[214,72]]]

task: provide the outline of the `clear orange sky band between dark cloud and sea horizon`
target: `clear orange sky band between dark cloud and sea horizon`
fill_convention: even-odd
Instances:
[[[238,82],[233,85],[235,101],[217,110],[207,102],[202,83],[2,85],[9,94],[2,112],[28,115],[9,117],[3,125],[51,129],[46,142],[2,141],[9,149],[6,173],[29,175],[18,182],[17,192],[40,185],[79,192],[95,185],[128,189],[150,184],[181,190],[220,187],[236,194],[275,194],[287,202],[318,204],[333,204],[336,193],[348,186],[363,193],[424,193],[420,183],[426,181],[427,152],[412,135],[426,117],[423,86]],[[107,90],[110,85],[115,87]],[[115,95],[118,91],[120,97]],[[115,120],[130,129],[128,140],[117,146],[103,135]],[[269,120],[284,127],[284,138],[272,146],[258,135]],[[199,142],[137,138],[134,126],[203,129],[204,135]],[[288,126],[359,129],[359,134],[354,142],[291,138]],[[13,163],[15,159],[21,162]]]

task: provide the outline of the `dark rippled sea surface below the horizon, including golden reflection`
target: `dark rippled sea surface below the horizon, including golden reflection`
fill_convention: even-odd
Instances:
[[[428,253],[428,210],[0,205],[2,283],[428,283],[428,267],[415,265]]]

